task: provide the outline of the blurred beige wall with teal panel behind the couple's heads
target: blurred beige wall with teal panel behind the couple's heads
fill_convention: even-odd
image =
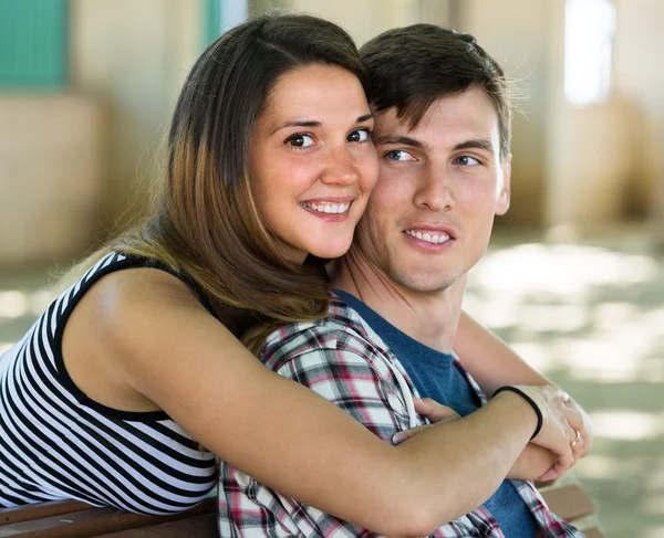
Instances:
[[[0,263],[68,259],[139,212],[188,67],[221,30],[276,7],[334,20],[359,43],[418,21],[475,34],[522,94],[500,225],[632,221],[661,239],[664,3],[570,2],[615,11],[608,85],[583,106],[566,97],[564,0],[0,0]],[[598,13],[572,57],[584,34],[594,46]]]

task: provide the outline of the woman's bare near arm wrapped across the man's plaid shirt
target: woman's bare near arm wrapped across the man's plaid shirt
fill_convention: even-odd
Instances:
[[[535,429],[529,404],[501,393],[470,420],[432,426],[394,447],[264,368],[175,277],[126,270],[97,286],[72,329],[94,335],[101,362],[113,365],[127,392],[149,399],[259,482],[381,534],[429,534],[449,520],[448,505],[459,503],[459,490],[467,490],[463,509],[477,506]],[[544,408],[538,439],[568,466],[570,434],[554,405]],[[467,470],[465,486],[455,489],[448,481],[458,478],[459,468]]]

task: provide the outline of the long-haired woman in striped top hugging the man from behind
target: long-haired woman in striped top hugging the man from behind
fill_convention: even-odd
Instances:
[[[276,106],[279,81],[302,70],[335,89]],[[77,498],[173,513],[209,492],[216,454],[384,534],[402,534],[423,507],[435,517],[438,425],[387,446],[247,349],[258,352],[277,325],[326,313],[315,260],[347,250],[377,175],[367,93],[352,40],[319,19],[261,18],[210,45],[179,96],[149,217],[84,262],[85,274],[0,358],[0,506]],[[312,165],[302,148],[325,99],[339,114]],[[287,177],[271,167],[276,152],[292,156]],[[274,203],[292,189],[297,204]],[[344,194],[328,208],[336,189]],[[321,209],[329,218],[311,214]],[[546,382],[512,359],[515,381]],[[525,390],[543,414],[535,441],[569,456],[567,418],[577,415],[560,414],[554,390]],[[521,409],[513,393],[497,398]],[[440,416],[430,402],[421,411]],[[404,484],[402,498],[382,487],[385,476]]]

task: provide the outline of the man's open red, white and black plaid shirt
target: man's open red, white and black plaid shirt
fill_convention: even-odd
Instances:
[[[387,443],[396,432],[425,423],[414,408],[417,391],[400,361],[360,315],[334,295],[326,319],[289,325],[270,335],[262,361],[335,403]],[[485,394],[456,358],[455,366],[485,404]],[[532,483],[512,484],[543,538],[583,537],[548,509]],[[280,495],[224,462],[219,474],[219,532],[222,537],[376,536]],[[483,507],[442,525],[430,536],[504,538],[491,514]]]

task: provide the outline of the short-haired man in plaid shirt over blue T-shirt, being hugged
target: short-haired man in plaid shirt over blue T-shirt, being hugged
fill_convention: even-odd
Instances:
[[[486,251],[494,217],[509,207],[502,71],[471,36],[429,24],[385,32],[361,52],[373,85],[380,179],[332,278],[329,319],[272,335],[263,361],[386,441],[422,423],[416,394],[459,413],[440,458],[454,493],[442,519],[448,523],[426,532],[582,536],[548,510],[531,483],[504,479],[510,466],[509,478],[540,476],[548,460],[529,466],[506,455],[491,468],[502,447],[490,414],[475,413],[486,399],[452,355],[466,274]],[[228,465],[221,473],[222,535],[366,536]]]

